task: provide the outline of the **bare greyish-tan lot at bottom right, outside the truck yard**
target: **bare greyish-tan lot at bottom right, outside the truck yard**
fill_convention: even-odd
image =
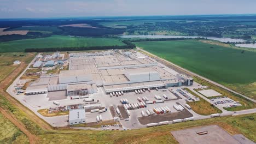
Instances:
[[[207,134],[198,135],[197,132],[207,131]],[[177,131],[171,131],[171,134],[181,144],[239,144],[234,137],[218,125],[209,125],[204,127],[195,127]]]

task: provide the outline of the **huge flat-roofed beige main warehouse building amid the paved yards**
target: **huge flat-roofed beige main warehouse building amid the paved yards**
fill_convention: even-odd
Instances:
[[[45,65],[53,67],[54,61]],[[52,80],[55,82],[48,83]],[[60,71],[59,75],[41,77],[34,85],[37,87],[28,87],[26,94],[41,94],[47,87],[48,92],[66,90],[67,96],[77,96],[96,93],[97,87],[103,87],[109,94],[142,88],[190,86],[193,78],[171,74],[153,58],[141,53],[106,51],[70,53],[68,70]]]

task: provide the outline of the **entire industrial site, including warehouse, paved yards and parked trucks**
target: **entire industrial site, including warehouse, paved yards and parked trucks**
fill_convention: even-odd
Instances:
[[[21,76],[10,86],[10,94],[54,127],[112,123],[101,129],[137,129],[193,121],[206,118],[189,105],[201,99],[219,109],[241,106],[136,50],[39,53]],[[37,78],[31,81],[31,76]],[[56,115],[39,112],[45,109]]]

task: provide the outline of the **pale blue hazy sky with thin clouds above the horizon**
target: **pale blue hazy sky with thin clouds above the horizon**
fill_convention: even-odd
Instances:
[[[256,14],[255,0],[0,0],[0,18]]]

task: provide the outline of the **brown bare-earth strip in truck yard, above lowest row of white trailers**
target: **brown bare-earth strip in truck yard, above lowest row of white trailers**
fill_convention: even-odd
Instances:
[[[172,113],[163,113],[163,114],[155,114],[154,116],[147,117],[139,117],[138,121],[141,124],[148,123],[159,123],[162,121],[172,121],[173,119],[184,119],[187,117],[193,117],[193,115],[186,109],[183,112],[172,112]]]

